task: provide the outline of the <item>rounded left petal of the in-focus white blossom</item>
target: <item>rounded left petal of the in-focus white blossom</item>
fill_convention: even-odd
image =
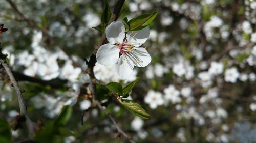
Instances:
[[[119,58],[120,50],[112,44],[104,44],[99,47],[96,58],[101,65],[114,65]]]

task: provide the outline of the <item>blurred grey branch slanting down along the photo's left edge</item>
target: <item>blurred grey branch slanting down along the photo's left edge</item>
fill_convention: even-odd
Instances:
[[[16,79],[14,78],[9,65],[6,63],[6,55],[4,55],[2,53],[1,43],[0,43],[0,63],[4,67],[6,73],[8,74],[8,76],[12,82],[12,85],[17,93],[20,115],[25,116],[26,125],[28,127],[29,135],[32,136],[35,134],[34,123],[30,120],[30,118],[27,115],[27,108],[26,108],[25,101],[23,99],[22,91],[20,90],[19,85],[18,85]]]

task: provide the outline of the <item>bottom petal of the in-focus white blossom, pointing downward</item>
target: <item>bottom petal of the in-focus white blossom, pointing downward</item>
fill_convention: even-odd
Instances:
[[[118,62],[116,63],[116,70],[122,79],[130,77],[134,68],[133,61],[126,55],[121,55]]]

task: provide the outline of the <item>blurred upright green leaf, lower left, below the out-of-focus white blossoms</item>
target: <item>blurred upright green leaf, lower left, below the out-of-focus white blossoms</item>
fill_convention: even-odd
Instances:
[[[72,107],[71,106],[64,106],[62,108],[61,113],[56,118],[56,124],[65,126],[68,123],[71,115],[72,115]]]

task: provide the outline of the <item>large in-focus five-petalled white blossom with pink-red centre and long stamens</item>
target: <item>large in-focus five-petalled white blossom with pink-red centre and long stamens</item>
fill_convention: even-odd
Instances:
[[[134,66],[145,67],[151,62],[151,56],[145,48],[140,47],[150,35],[148,27],[139,31],[128,32],[121,22],[112,22],[106,27],[109,43],[99,47],[96,57],[101,65],[115,65],[118,75],[127,79]],[[124,40],[124,41],[123,41]],[[119,56],[121,54],[121,56]]]

